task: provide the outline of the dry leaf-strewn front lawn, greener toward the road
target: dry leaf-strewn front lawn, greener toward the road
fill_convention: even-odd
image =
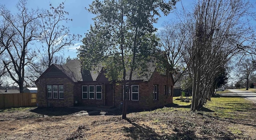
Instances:
[[[248,100],[215,96],[201,111],[190,112],[190,103],[175,99],[156,110],[130,110],[126,120],[120,110],[91,116],[67,108],[0,110],[0,139],[256,139],[256,106]]]

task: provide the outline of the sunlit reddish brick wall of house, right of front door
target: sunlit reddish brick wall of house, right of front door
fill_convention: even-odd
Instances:
[[[154,109],[172,103],[172,94],[164,93],[164,85],[173,86],[171,77],[154,72],[148,82],[134,82],[139,85],[139,100],[128,101],[128,108]],[[153,85],[158,85],[158,100],[153,100]],[[122,102],[122,85],[116,86],[115,106],[119,107]]]

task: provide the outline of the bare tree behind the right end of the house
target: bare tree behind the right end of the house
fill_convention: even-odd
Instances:
[[[182,60],[182,47],[187,37],[183,27],[179,22],[164,22],[157,34],[160,38],[160,50],[164,50],[168,59],[168,72],[175,75],[174,84],[187,74],[186,65]]]

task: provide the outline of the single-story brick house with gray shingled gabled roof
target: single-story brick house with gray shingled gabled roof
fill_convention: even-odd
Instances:
[[[148,76],[132,77],[128,108],[152,109],[172,103],[173,78],[154,66]],[[52,64],[36,80],[38,107],[115,106],[123,101],[122,83],[110,84],[102,67],[81,72],[79,60]]]

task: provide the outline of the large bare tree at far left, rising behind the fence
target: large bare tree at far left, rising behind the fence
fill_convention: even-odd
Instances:
[[[16,8],[18,12],[11,14],[5,6],[0,7],[0,16],[2,16],[3,22],[9,24],[11,32],[15,34],[10,38],[10,47],[5,48],[8,57],[4,59],[3,63],[22,93],[24,92],[25,67],[35,56],[29,44],[39,35],[39,15],[38,10],[29,11],[27,9],[26,0],[20,0]]]

